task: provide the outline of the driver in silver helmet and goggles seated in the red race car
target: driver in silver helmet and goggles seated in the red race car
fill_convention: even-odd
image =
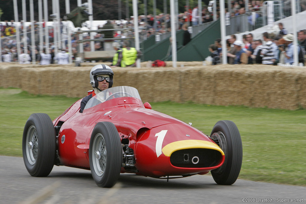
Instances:
[[[89,78],[90,84],[94,89],[90,95],[85,96],[82,99],[80,113],[83,112],[85,105],[87,104],[89,99],[91,99],[93,96],[100,93],[101,91],[111,88],[113,86],[113,76],[113,70],[105,64],[99,64],[92,67],[89,73]]]

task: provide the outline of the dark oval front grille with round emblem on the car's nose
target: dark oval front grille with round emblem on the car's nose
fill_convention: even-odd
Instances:
[[[181,149],[170,156],[170,162],[176,167],[207,168],[216,166],[221,159],[221,153],[215,149]]]

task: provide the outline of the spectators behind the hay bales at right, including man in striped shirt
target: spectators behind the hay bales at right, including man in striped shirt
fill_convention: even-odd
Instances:
[[[282,23],[278,24],[279,33],[262,34],[262,39],[253,39],[252,33],[242,36],[242,41],[236,35],[226,40],[227,62],[229,64],[265,64],[292,65],[294,62],[293,34],[288,34]],[[306,29],[300,30],[298,36],[298,62],[305,64]],[[209,46],[212,64],[218,64],[222,59],[221,39],[216,39],[214,45]],[[217,62],[217,63],[216,63]]]

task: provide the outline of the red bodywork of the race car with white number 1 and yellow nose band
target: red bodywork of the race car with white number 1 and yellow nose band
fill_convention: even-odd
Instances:
[[[61,126],[58,156],[65,166],[90,169],[91,132],[95,124],[102,121],[112,122],[121,141],[128,140],[135,156],[137,172],[134,173],[151,177],[205,174],[224,162],[223,151],[207,135],[178,119],[151,110],[149,104],[145,108],[138,98],[114,98],[83,113],[79,112],[80,102],[81,99],[53,121],[54,126]],[[215,149],[220,157],[214,166],[205,168],[177,167],[170,162],[174,151],[189,148]],[[124,172],[130,171],[122,167],[121,173]]]

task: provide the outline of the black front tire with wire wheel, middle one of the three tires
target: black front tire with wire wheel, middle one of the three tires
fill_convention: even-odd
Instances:
[[[91,133],[89,145],[91,175],[99,187],[113,187],[120,175],[122,146],[113,123],[99,122]]]

